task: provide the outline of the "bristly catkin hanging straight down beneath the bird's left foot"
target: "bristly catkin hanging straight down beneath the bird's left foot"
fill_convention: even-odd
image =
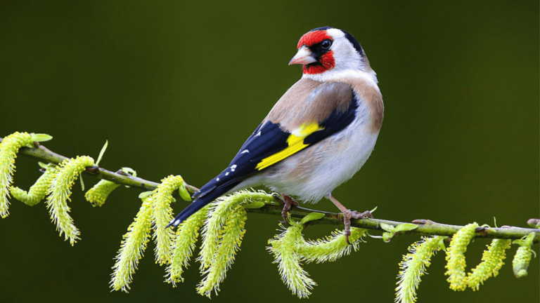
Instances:
[[[305,245],[302,237],[302,223],[290,222],[290,227],[283,233],[274,236],[269,241],[271,246],[268,250],[274,255],[274,263],[278,264],[281,280],[293,295],[300,298],[307,298],[311,295],[314,285],[317,285],[309,274],[302,268],[302,256],[298,254]]]

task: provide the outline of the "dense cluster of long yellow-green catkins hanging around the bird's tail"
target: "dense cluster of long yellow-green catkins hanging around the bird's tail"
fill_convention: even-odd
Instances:
[[[219,291],[219,284],[224,281],[226,271],[240,249],[247,218],[245,208],[261,207],[264,206],[262,201],[274,199],[262,191],[240,191],[199,210],[174,232],[167,224],[172,220],[170,203],[174,201],[172,194],[176,190],[180,196],[191,199],[180,176],[166,177],[158,189],[141,194],[143,205],[124,235],[113,267],[110,287],[114,290],[129,290],[150,233],[156,244],[156,263],[167,265],[167,282],[174,286],[183,281],[181,275],[188,267],[199,231],[205,224],[203,249],[198,260],[202,264],[201,272],[206,276],[198,286],[198,292],[210,297],[212,290]]]

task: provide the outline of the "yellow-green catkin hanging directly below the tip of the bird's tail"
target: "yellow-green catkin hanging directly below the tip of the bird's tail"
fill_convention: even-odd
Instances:
[[[199,230],[205,222],[207,211],[208,206],[188,217],[176,229],[176,235],[172,245],[172,260],[169,267],[167,267],[167,282],[172,283],[173,286],[176,286],[176,283],[184,282],[182,273],[189,265],[188,262],[193,255]]]

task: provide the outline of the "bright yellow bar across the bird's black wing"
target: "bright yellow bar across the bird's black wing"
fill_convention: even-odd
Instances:
[[[308,147],[309,144],[304,144],[304,139],[315,133],[317,130],[323,130],[324,128],[319,126],[317,123],[302,124],[299,128],[295,129],[293,133],[287,138],[288,147],[283,149],[281,152],[277,152],[271,156],[267,156],[262,159],[255,169],[263,170],[271,166],[272,164],[278,163],[279,161],[300,152],[302,149]]]

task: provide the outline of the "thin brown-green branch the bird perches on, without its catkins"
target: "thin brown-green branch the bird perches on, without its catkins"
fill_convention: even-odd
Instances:
[[[0,138],[0,142],[3,138]],[[47,149],[41,144],[35,144],[34,148],[23,147],[20,149],[20,154],[26,156],[31,156],[40,161],[48,163],[60,163],[66,158],[51,150]],[[143,189],[145,191],[151,191],[158,187],[158,183],[144,180],[140,177],[133,177],[118,170],[116,173],[113,173],[110,170],[104,168],[99,168],[97,166],[87,167],[85,172],[89,175],[94,175],[99,179],[109,180],[115,182],[116,184],[127,185],[129,187],[136,187]],[[192,194],[195,191],[198,191],[197,187],[186,184],[186,189]],[[266,203],[262,208],[248,208],[246,209],[248,213],[262,213],[266,215],[276,215],[281,217],[281,203],[276,199],[271,203]],[[331,224],[331,225],[342,225],[343,224],[343,215],[338,213],[328,213],[321,210],[311,210],[309,208],[295,207],[290,210],[290,215],[295,218],[302,218],[309,213],[323,213],[325,216],[320,220],[315,220],[309,222],[309,224]],[[378,231],[383,231],[380,227],[380,223],[390,224],[396,227],[399,224],[404,224],[405,222],[396,222],[390,220],[380,220],[380,219],[360,219],[352,220],[351,226],[364,228],[364,229],[373,229]],[[449,225],[433,222],[431,220],[414,220],[413,223],[418,224],[418,228],[411,231],[400,231],[397,234],[418,234],[422,236],[452,236],[463,226],[460,225]],[[501,228],[489,228],[489,227],[479,227],[475,231],[475,236],[477,238],[512,238],[519,239],[523,236],[534,232],[534,243],[538,243],[540,240],[540,229],[527,229],[521,227],[501,227]]]

